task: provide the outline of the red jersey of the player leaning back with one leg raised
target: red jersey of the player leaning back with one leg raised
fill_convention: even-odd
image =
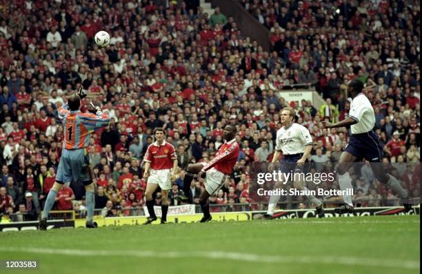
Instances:
[[[237,162],[237,157],[239,157],[239,144],[237,144],[236,139],[232,139],[220,146],[214,159],[204,166],[203,170],[206,171],[214,167],[221,173],[230,175]]]

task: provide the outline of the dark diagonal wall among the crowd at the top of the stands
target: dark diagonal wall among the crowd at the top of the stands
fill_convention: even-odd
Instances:
[[[263,50],[270,51],[269,31],[252,14],[250,14],[237,0],[211,0],[213,7],[219,7],[226,16],[232,16],[243,35],[257,40]]]

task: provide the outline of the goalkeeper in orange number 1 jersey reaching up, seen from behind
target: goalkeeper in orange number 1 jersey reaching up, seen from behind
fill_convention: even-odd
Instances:
[[[92,184],[90,175],[90,159],[86,147],[90,141],[90,133],[98,128],[107,126],[110,123],[110,118],[107,114],[101,112],[99,106],[94,106],[92,103],[89,108],[92,113],[82,113],[79,110],[81,108],[81,99],[86,96],[86,93],[82,91],[82,86],[80,86],[77,93],[72,95],[68,102],[58,110],[59,118],[63,123],[65,138],[59,168],[57,169],[56,182],[54,182],[47,195],[43,216],[39,222],[40,231],[47,229],[48,213],[50,213],[61,186],[71,181],[77,182],[78,179],[81,179],[86,190],[86,208],[88,211],[86,227],[97,228],[97,223],[92,220],[95,206],[94,184]]]

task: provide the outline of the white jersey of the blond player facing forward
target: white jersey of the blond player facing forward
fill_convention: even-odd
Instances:
[[[308,128],[297,123],[277,131],[276,150],[282,151],[283,155],[304,153],[305,146],[310,144],[313,142]]]

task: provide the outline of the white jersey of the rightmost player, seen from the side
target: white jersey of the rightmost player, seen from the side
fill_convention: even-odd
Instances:
[[[368,97],[360,93],[350,104],[349,117],[357,123],[350,126],[352,134],[368,133],[375,126],[375,112]]]

